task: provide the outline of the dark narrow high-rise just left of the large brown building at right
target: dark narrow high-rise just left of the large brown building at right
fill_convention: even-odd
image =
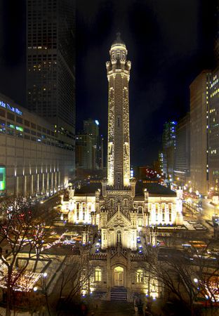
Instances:
[[[185,185],[190,176],[190,114],[178,121],[175,129],[174,180]]]

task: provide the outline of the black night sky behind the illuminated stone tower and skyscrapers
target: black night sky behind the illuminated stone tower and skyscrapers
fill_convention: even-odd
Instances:
[[[163,124],[190,109],[192,80],[213,66],[218,0],[78,0],[77,129],[100,121],[107,139],[105,62],[116,33],[131,60],[131,164],[157,159]],[[25,0],[0,0],[0,92],[25,105]]]

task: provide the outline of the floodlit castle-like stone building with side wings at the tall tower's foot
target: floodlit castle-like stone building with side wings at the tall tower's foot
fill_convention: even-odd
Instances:
[[[61,201],[61,213],[69,223],[84,225],[81,256],[92,271],[83,294],[112,300],[133,301],[135,296],[159,297],[159,282],[147,271],[147,245],[157,245],[157,230],[182,225],[180,192],[157,183],[135,183],[128,187],[91,183],[69,189]],[[96,226],[94,241],[89,227]]]

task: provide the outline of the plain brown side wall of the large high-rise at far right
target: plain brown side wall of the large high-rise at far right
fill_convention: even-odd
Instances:
[[[211,71],[202,71],[190,85],[190,180],[193,190],[208,191],[208,107]]]

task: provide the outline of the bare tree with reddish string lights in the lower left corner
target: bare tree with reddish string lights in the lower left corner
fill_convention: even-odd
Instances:
[[[36,271],[36,262],[44,249],[44,239],[50,233],[46,221],[51,218],[39,205],[32,205],[26,197],[8,197],[1,202],[0,225],[0,286],[6,288],[6,316],[11,315],[13,291],[29,290],[29,273]],[[19,255],[25,251],[26,260],[19,264]],[[34,258],[32,272],[27,272],[29,260]],[[27,284],[25,285],[25,282]],[[29,285],[28,285],[29,284]],[[26,287],[26,289],[25,289]]]

